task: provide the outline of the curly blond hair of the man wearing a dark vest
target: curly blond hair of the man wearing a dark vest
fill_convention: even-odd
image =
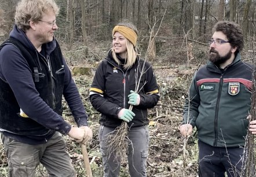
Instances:
[[[21,0],[16,6],[15,23],[18,28],[26,31],[30,28],[30,21],[41,20],[43,13],[50,10],[58,15],[59,8],[54,0]]]

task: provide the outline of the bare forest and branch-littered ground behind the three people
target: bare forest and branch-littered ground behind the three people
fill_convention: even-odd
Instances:
[[[17,2],[0,0],[0,42],[7,39],[12,30]],[[55,36],[74,75],[94,132],[87,146],[93,176],[103,176],[103,167],[97,136],[100,114],[89,102],[89,87],[98,62],[111,48],[112,28],[122,20],[129,20],[137,26],[142,58],[150,34],[155,37],[149,62],[156,73],[161,99],[155,108],[149,110],[148,176],[197,176],[196,134],[189,138],[186,157],[183,158],[184,139],[178,130],[188,86],[193,73],[208,60],[207,41],[217,21],[229,20],[240,24],[245,42],[242,58],[251,61],[255,57],[256,1],[56,0],[56,3],[60,14]],[[65,101],[63,117],[74,123]],[[77,176],[85,176],[81,147],[72,139],[65,138]],[[8,164],[1,144],[0,156],[0,176],[8,176]],[[47,176],[45,168],[39,166],[36,175]],[[120,176],[129,176],[125,160]]]

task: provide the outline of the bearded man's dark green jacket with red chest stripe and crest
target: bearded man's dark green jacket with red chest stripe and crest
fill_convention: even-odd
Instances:
[[[185,102],[183,124],[196,126],[200,141],[223,148],[244,146],[252,67],[237,53],[232,64],[224,69],[209,61],[196,72],[189,90],[190,104],[188,99]]]

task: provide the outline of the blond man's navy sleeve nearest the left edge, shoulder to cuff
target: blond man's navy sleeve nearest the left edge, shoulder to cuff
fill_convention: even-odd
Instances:
[[[6,45],[0,51],[0,58],[1,79],[9,84],[25,114],[50,130],[67,134],[71,125],[39,96],[30,67],[19,50],[13,45]]]

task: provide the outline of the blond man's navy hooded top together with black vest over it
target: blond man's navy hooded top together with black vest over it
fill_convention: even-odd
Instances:
[[[61,116],[64,96],[78,126],[87,114],[70,70],[55,39],[39,53],[16,27],[0,50],[0,129],[29,144],[47,142],[54,131],[66,135],[71,124]],[[20,116],[20,108],[28,118]]]

